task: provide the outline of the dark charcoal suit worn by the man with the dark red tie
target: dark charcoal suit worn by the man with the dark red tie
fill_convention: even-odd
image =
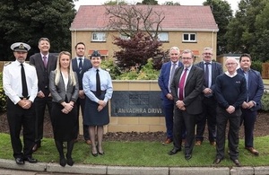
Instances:
[[[184,66],[178,67],[175,71],[173,81],[171,83],[171,92],[174,98],[174,102],[178,99],[178,83],[180,76],[184,70]],[[202,112],[202,99],[201,92],[203,90],[204,83],[204,71],[203,69],[192,66],[187,75],[186,84],[184,87],[186,110],[181,110],[175,107],[174,116],[174,129],[173,129],[173,140],[174,147],[181,149],[182,142],[182,125],[185,124],[187,130],[186,143],[185,143],[185,154],[186,156],[192,153],[195,141],[195,116]]]

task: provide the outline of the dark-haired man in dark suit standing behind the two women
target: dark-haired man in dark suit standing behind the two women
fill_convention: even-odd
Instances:
[[[82,116],[85,108],[85,93],[82,88],[83,74],[91,68],[91,61],[85,57],[85,44],[78,42],[75,47],[76,57],[72,60],[73,71],[76,72],[79,82],[79,98],[76,101],[77,106],[77,121],[79,121],[80,108],[82,109]],[[77,133],[79,134],[79,122],[77,122]],[[87,144],[91,144],[88,126],[83,125],[83,137]]]

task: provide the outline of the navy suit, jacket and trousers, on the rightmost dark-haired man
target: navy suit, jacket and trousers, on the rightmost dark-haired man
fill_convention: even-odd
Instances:
[[[239,68],[239,74],[244,76],[244,71]],[[253,130],[256,122],[257,110],[261,109],[261,98],[264,94],[264,83],[261,77],[261,74],[256,70],[250,69],[248,71],[248,82],[247,82],[247,100],[255,101],[256,106],[251,109],[243,109],[241,115],[241,125],[244,122],[245,128],[245,147],[254,147],[253,146]]]

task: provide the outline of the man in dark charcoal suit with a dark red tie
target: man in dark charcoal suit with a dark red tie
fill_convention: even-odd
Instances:
[[[173,155],[181,151],[182,125],[185,124],[187,136],[185,142],[185,159],[192,158],[195,145],[195,117],[202,112],[202,98],[204,71],[193,66],[194,54],[191,50],[184,50],[181,60],[184,66],[176,69],[171,83],[171,92],[176,103],[173,139],[174,148],[169,152]]]

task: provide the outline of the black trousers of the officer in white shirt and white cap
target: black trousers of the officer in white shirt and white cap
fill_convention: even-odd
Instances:
[[[31,157],[32,147],[35,144],[34,120],[35,110],[34,103],[30,109],[22,109],[18,104],[14,104],[10,99],[7,100],[7,120],[10,129],[11,144],[13,146],[14,158]],[[23,127],[23,153],[22,141],[20,138]]]

